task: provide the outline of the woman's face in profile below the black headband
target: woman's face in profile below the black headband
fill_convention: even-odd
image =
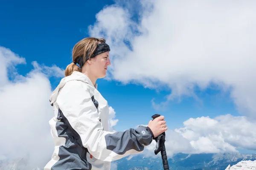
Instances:
[[[94,74],[96,79],[101,79],[106,76],[108,65],[111,65],[109,59],[109,52],[99,54],[89,61],[91,72]]]

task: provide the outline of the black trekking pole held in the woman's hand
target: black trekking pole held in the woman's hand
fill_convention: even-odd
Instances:
[[[151,117],[154,120],[155,118],[157,118],[159,116],[160,116],[160,114],[154,114]],[[157,153],[159,153],[161,151],[161,156],[162,156],[162,160],[163,160],[163,169],[169,170],[169,164],[168,164],[168,160],[167,160],[167,156],[166,156],[166,148],[165,148],[165,144],[164,144],[165,132],[163,132],[159,136],[155,137],[154,140],[157,142],[156,150],[154,150],[154,153],[155,153],[155,155],[157,155]]]

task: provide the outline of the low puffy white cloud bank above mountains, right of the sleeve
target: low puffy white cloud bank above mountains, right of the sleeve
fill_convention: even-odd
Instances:
[[[255,149],[256,128],[245,116],[229,114],[215,117],[190,118],[184,127],[166,131],[166,152],[175,153],[230,153],[237,149]],[[145,156],[154,156],[156,142],[145,148]]]

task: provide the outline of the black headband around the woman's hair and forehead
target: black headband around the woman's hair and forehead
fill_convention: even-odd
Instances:
[[[99,55],[99,54],[102,54],[102,53],[105,53],[107,51],[110,51],[110,47],[108,44],[106,43],[100,43],[97,45],[97,48],[95,49],[95,51],[93,52],[93,54],[91,55],[90,58],[93,58],[95,57],[96,55]],[[89,54],[86,54],[86,58],[85,58],[85,62],[89,59]],[[74,62],[75,64],[78,63],[80,68],[83,67],[84,65],[84,55],[80,56],[80,57],[77,57],[76,58],[76,61]]]

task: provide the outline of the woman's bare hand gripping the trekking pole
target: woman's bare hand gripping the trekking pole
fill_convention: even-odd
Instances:
[[[148,127],[151,129],[155,138],[167,130],[166,121],[163,119],[164,116],[159,116],[154,120],[150,120],[148,123]]]

